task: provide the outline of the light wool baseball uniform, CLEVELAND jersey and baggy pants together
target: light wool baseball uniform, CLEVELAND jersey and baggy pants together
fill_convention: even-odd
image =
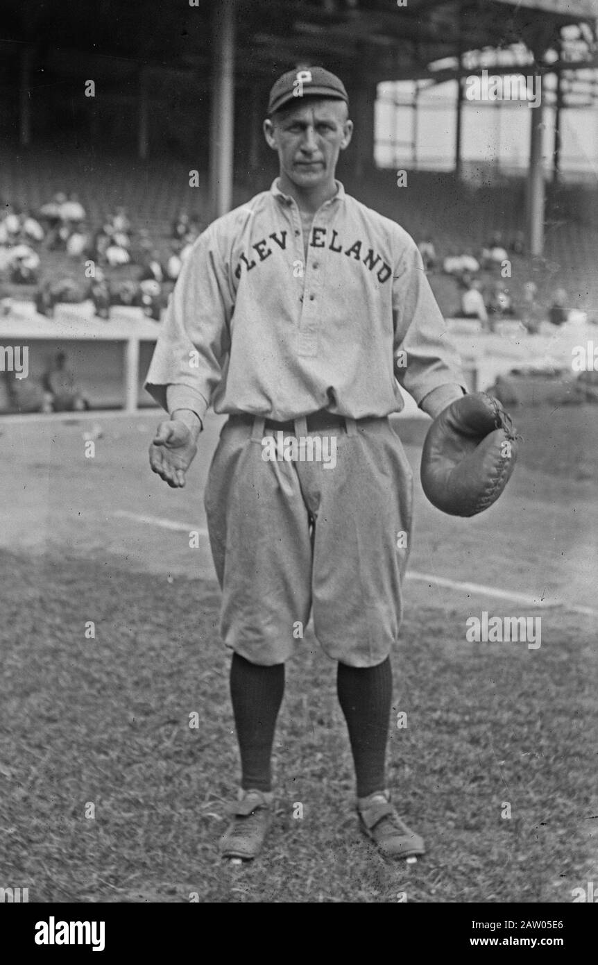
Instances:
[[[413,482],[388,417],[401,386],[433,417],[464,391],[415,242],[336,185],[305,239],[278,179],[206,229],[146,382],[168,411],[231,416],[205,510],[225,644],[262,665],[285,661],[310,612],[330,657],[388,656]],[[334,437],[335,466],[265,458],[277,428]]]

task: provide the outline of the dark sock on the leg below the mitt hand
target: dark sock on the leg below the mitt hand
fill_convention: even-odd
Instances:
[[[386,745],[393,700],[390,657],[377,667],[340,663],[337,692],[349,731],[357,796],[367,797],[386,787]]]

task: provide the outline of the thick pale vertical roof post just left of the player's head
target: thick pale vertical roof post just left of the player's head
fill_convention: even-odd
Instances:
[[[232,205],[235,0],[213,7],[209,199],[213,217]]]

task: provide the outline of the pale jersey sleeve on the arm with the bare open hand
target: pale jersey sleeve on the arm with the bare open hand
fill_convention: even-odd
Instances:
[[[201,420],[230,351],[234,308],[230,273],[212,229],[200,235],[180,270],[145,383],[162,408],[176,399],[177,408],[193,409]],[[169,387],[174,390],[167,394]]]

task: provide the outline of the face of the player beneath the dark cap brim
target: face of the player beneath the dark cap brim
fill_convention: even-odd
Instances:
[[[340,151],[351,140],[353,123],[342,100],[309,97],[264,121],[268,145],[278,152],[281,174],[299,188],[334,179]]]

